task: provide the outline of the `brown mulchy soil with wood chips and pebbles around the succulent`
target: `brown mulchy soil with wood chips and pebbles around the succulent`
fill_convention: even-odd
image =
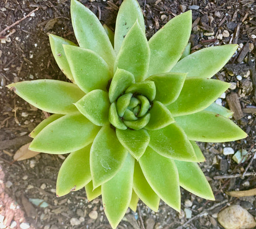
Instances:
[[[114,30],[121,0],[80,2]],[[222,228],[217,213],[234,203],[256,216],[255,196],[235,198],[225,194],[249,190],[256,185],[256,160],[253,160],[256,151],[256,3],[253,0],[143,0],[139,3],[145,16],[147,38],[175,15],[192,9],[192,52],[212,45],[239,44],[238,52],[216,78],[232,83],[221,102],[234,111],[234,121],[248,137],[228,143],[200,143],[206,158],[200,166],[214,190],[216,201],[181,189],[181,214],[162,201],[157,213],[139,201],[137,212],[128,210],[118,228]],[[22,19],[33,10],[34,13]],[[14,22],[17,23],[13,27],[1,32]],[[31,141],[28,134],[49,114],[30,106],[5,86],[36,79],[67,81],[51,54],[47,33],[76,42],[69,0],[0,2],[0,214],[5,217],[7,228],[11,228],[11,223],[15,225],[14,221],[17,225],[12,228],[26,228],[25,224],[21,225],[24,222],[36,229],[111,228],[100,198],[88,202],[83,189],[56,198],[58,169],[67,155],[39,154],[28,160],[13,161],[17,149]],[[223,155],[224,147],[231,147],[234,152],[246,150],[246,160],[237,164],[232,155]],[[245,172],[246,176],[242,176]],[[33,204],[33,198],[40,199],[39,204]],[[184,211],[191,212],[193,218]]]

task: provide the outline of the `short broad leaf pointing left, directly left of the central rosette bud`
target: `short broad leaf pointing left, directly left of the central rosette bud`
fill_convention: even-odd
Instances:
[[[95,125],[109,124],[110,101],[107,92],[99,89],[90,91],[75,105]]]

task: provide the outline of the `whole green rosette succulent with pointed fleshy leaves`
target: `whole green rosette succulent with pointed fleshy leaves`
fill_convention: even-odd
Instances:
[[[123,1],[115,34],[76,0],[71,17],[79,46],[49,36],[57,64],[73,83],[8,85],[28,103],[54,113],[32,131],[29,148],[71,152],[58,173],[57,196],[83,187],[89,200],[102,195],[113,228],[129,206],[136,211],[139,198],[154,211],[160,198],[180,211],[180,186],[214,200],[197,164],[205,159],[196,141],[247,136],[228,118],[232,112],[214,103],[229,84],[210,79],[237,45],[189,54],[191,11],[147,41],[136,0]]]

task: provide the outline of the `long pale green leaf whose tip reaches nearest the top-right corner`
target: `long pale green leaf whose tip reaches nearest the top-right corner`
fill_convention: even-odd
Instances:
[[[168,72],[178,62],[187,45],[191,25],[190,10],[171,19],[148,41],[151,50],[148,77]]]

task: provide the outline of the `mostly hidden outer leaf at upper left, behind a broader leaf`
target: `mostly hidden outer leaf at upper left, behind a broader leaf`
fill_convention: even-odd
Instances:
[[[67,76],[67,78],[69,80],[74,82],[74,78],[73,78],[73,75],[71,73],[69,63],[68,63],[68,60],[66,58],[66,54],[64,52],[62,44],[69,44],[69,45],[74,45],[74,46],[76,46],[76,44],[74,44],[73,42],[71,42],[67,39],[64,39],[62,37],[59,37],[59,36],[56,36],[56,35],[53,35],[53,34],[49,34],[49,39],[50,39],[52,54],[53,54],[54,59],[56,60],[56,62],[58,64],[59,68]]]

